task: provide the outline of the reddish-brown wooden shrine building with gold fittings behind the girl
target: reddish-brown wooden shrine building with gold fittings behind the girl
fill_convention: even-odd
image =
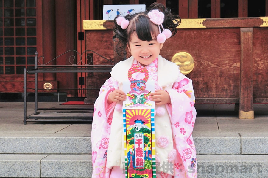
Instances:
[[[69,50],[93,51],[83,53],[79,65],[88,57],[93,65],[123,60],[113,51],[113,20],[102,20],[103,5],[153,2],[182,18],[160,54],[193,80],[196,103],[236,103],[240,118],[253,118],[253,103],[268,103],[268,0],[2,0],[0,101],[23,92],[23,69],[35,68],[36,51],[49,65],[70,64],[70,55],[52,60]],[[92,103],[107,77],[108,72],[40,73],[38,88]],[[35,75],[27,78],[32,93]]]

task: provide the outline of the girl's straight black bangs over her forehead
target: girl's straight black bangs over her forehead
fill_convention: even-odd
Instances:
[[[140,40],[151,41],[155,40],[159,34],[158,26],[153,24],[150,19],[144,14],[136,16],[132,22],[133,23],[131,24],[128,31],[129,37],[131,37],[131,34],[133,34],[133,32],[136,32]]]

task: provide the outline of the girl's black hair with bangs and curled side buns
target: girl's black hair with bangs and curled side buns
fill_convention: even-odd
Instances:
[[[164,29],[169,29],[172,32],[172,36],[177,33],[176,27],[181,22],[180,16],[171,13],[171,10],[161,3],[155,2],[144,12],[124,16],[124,18],[129,21],[127,29],[122,29],[121,26],[116,23],[117,17],[120,16],[117,15],[114,19],[115,26],[113,31],[115,32],[115,35],[113,36],[113,40],[118,41],[115,48],[118,55],[122,56],[122,52],[125,51],[127,43],[131,40],[130,38],[133,32],[136,32],[138,38],[142,41],[151,41],[153,40],[152,37],[156,39],[159,34],[158,25],[152,23],[148,17],[148,12],[154,9],[158,9],[165,15],[164,22],[162,23]],[[163,29],[161,29],[161,31],[163,31]]]

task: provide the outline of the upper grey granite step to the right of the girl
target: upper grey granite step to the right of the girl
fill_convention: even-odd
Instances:
[[[193,133],[193,138],[197,154],[268,154],[268,133]]]

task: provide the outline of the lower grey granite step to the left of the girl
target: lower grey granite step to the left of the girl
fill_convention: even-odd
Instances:
[[[90,178],[91,155],[0,154],[0,177]]]

